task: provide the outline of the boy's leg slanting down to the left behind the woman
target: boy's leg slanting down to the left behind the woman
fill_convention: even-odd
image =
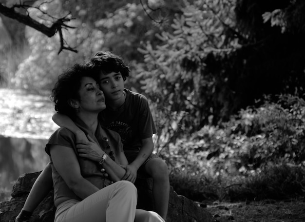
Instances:
[[[38,204],[42,202],[42,200],[47,196],[52,187],[52,168],[51,164],[48,163],[36,179],[28,197],[26,198],[22,210],[16,218],[16,222],[29,220],[33,211],[36,209]]]

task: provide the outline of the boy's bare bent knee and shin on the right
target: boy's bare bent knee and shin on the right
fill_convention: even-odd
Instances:
[[[153,180],[152,196],[155,211],[166,220],[170,198],[168,167],[162,159],[153,158],[144,164],[144,170]]]

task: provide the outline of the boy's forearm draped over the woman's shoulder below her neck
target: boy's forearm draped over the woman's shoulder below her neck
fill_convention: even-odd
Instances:
[[[52,120],[60,127],[64,127],[72,131],[76,135],[76,143],[82,143],[84,141],[88,141],[85,133],[79,129],[74,121],[72,121],[68,116],[55,113],[52,116]]]

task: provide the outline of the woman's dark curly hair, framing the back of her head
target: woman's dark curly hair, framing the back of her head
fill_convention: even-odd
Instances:
[[[78,90],[82,78],[94,78],[94,76],[96,77],[96,75],[93,74],[91,67],[80,63],[76,63],[63,74],[59,75],[50,97],[51,101],[55,103],[55,110],[70,118],[75,117],[76,110],[69,105],[69,100],[79,100]]]

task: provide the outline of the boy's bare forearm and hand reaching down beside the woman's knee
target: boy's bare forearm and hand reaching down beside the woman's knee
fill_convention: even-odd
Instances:
[[[153,151],[152,137],[142,139],[142,147],[137,157],[132,163],[124,167],[126,169],[126,174],[124,175],[122,180],[135,182],[137,170],[140,168],[143,162],[145,162],[146,159],[152,154],[152,151]]]

